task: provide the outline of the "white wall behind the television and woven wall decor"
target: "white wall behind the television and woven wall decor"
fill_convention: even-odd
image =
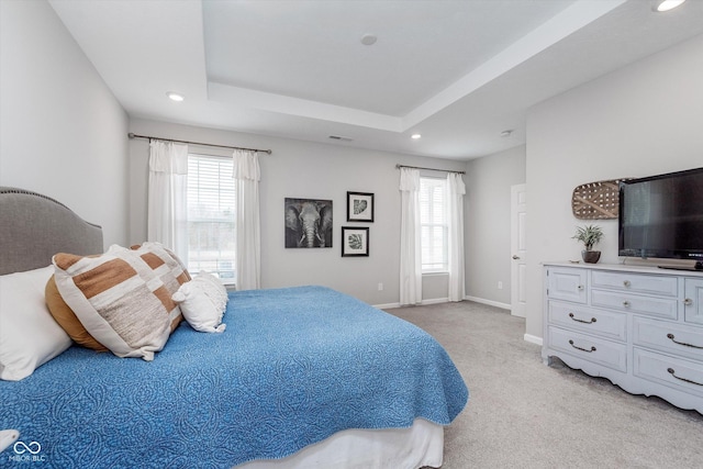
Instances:
[[[527,331],[543,335],[542,266],[579,259],[574,187],[703,166],[703,35],[539,103],[527,116]],[[617,263],[617,221],[599,222]]]

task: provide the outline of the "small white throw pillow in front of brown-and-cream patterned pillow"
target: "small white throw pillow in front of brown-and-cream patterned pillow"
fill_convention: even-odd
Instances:
[[[223,332],[222,315],[227,306],[227,290],[220,279],[202,271],[180,286],[171,297],[179,304],[188,324],[200,332]]]

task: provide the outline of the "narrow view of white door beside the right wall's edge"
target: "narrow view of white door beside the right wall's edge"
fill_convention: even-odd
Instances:
[[[510,271],[510,302],[511,314],[514,316],[525,317],[526,315],[526,294],[527,294],[527,276],[526,265],[527,249],[525,248],[525,219],[527,215],[527,205],[525,203],[525,185],[511,186],[511,226],[510,226],[510,245],[512,266]]]

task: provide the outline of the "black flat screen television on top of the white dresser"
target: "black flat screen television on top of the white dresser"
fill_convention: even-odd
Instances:
[[[703,269],[703,168],[621,182],[618,255]]]

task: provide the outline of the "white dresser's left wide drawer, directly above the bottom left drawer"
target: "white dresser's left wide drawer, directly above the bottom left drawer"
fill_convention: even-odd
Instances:
[[[579,304],[549,302],[549,323],[603,337],[626,340],[627,315]]]

